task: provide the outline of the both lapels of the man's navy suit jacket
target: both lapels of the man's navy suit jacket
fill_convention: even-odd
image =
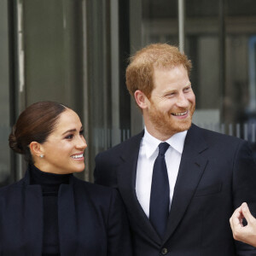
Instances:
[[[132,220],[137,222],[137,226],[143,230],[143,233],[148,236],[148,239],[160,245],[162,244],[160,236],[150,224],[148,217],[137,200],[135,190],[137,159],[142,137],[143,133],[133,137],[132,141],[126,143],[125,150],[120,154],[122,163],[119,165],[117,174],[119,192],[125,201],[126,208]],[[206,149],[207,143],[201,136],[199,128],[192,125],[184,143],[164,242],[172,236],[177,225],[182,220],[189,206],[189,202],[195,193],[195,189],[201,180],[207,166],[207,159],[201,156],[201,152]]]

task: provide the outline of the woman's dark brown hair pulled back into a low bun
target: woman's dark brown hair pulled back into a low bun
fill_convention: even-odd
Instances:
[[[26,108],[13,126],[9,135],[9,147],[24,154],[25,160],[33,162],[29,144],[44,143],[54,131],[60,114],[67,109],[57,102],[37,102]]]

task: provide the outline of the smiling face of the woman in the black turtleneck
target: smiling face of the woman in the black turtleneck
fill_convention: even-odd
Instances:
[[[82,172],[87,144],[78,114],[68,108],[61,113],[55,130],[40,147],[44,158],[35,161],[35,166],[41,171],[59,174]]]

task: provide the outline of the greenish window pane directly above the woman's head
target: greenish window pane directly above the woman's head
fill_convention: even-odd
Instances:
[[[82,1],[23,1],[26,105],[51,100],[83,109]]]

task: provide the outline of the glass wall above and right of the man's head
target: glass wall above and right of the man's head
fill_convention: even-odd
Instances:
[[[180,2],[184,52],[193,63],[194,123],[244,138],[256,150],[256,2],[143,0],[143,44],[179,45]]]

